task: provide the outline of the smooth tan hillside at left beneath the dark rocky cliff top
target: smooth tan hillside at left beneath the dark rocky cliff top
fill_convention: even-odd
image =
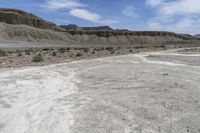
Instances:
[[[57,32],[49,29],[40,29],[26,25],[10,25],[6,23],[0,23],[0,40],[74,43],[73,36],[67,32]]]

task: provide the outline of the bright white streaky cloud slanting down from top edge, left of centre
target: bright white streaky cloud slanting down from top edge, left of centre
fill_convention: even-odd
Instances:
[[[88,5],[81,3],[79,0],[47,0],[43,6],[48,9],[66,9],[71,16],[94,23],[109,25],[117,22],[115,20],[103,19],[101,15],[87,10]]]

